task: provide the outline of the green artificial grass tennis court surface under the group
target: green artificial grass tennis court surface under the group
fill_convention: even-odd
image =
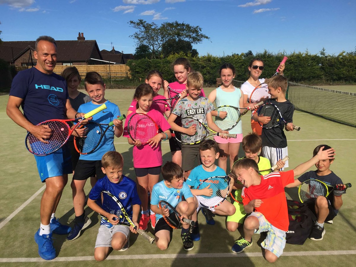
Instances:
[[[213,88],[205,89],[205,93]],[[335,88],[336,89],[336,88]],[[131,103],[133,89],[106,90],[105,98],[117,104],[122,113],[126,113]],[[225,217],[215,216],[215,225],[207,225],[204,216],[199,213],[200,241],[194,242],[194,249],[186,252],[180,239],[180,230],[173,231],[173,239],[166,251],[160,251],[155,244],[150,245],[141,236],[130,236],[130,248],[125,252],[112,251],[104,262],[95,262],[94,245],[99,227],[99,216],[88,207],[85,208],[92,220],[91,225],[82,231],[82,235],[73,241],[67,241],[66,236],[54,235],[54,246],[57,258],[53,261],[42,260],[37,253],[38,247],[33,235],[40,223],[40,192],[33,200],[28,201],[44,184],[38,177],[35,159],[25,148],[26,131],[16,125],[6,115],[8,95],[0,96],[0,134],[1,178],[0,179],[0,266],[265,266],[268,262],[262,257],[260,235],[253,236],[253,245],[245,250],[246,253],[235,255],[231,252],[234,240],[242,234],[242,227],[231,233],[225,228]],[[331,165],[344,183],[353,183],[356,179],[352,164],[355,161],[356,129],[354,127],[337,124],[300,111],[294,112],[293,121],[301,127],[299,132],[287,132],[289,168],[307,161],[312,157],[313,149],[322,143],[336,149],[336,159]],[[250,116],[242,118],[243,132],[251,131]],[[124,157],[124,174],[135,179],[132,163],[132,146],[127,139],[115,138],[116,150]],[[168,141],[162,143],[163,162],[171,160]],[[243,151],[240,148],[240,156]],[[312,169],[315,169],[313,167]],[[62,224],[73,225],[74,209],[72,190],[70,188],[72,176],[64,189],[61,202],[56,211]],[[85,192],[90,191],[87,182]],[[293,199],[298,199],[297,188],[287,189]],[[356,261],[356,211],[353,199],[356,189],[349,188],[342,197],[344,205],[334,219],[334,224],[325,225],[326,234],[322,241],[307,240],[304,245],[289,245],[284,254],[274,263],[275,266],[354,266]],[[24,206],[5,225],[4,220],[20,206]],[[153,236],[151,226],[148,231]],[[340,255],[341,254],[341,255]],[[120,260],[117,262],[117,260]]]

